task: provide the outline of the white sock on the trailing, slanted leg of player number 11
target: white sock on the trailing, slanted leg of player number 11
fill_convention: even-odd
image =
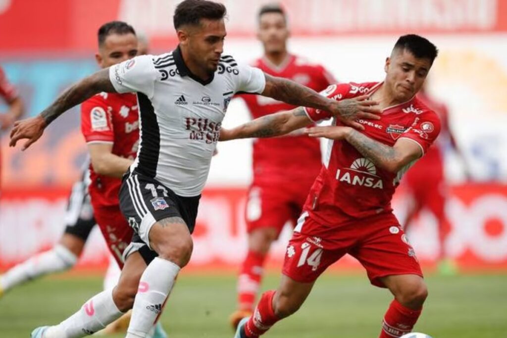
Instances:
[[[44,332],[44,338],[79,338],[103,329],[123,315],[113,301],[113,289],[93,296],[74,315]]]

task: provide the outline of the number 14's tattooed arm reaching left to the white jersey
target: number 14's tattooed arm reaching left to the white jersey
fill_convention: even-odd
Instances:
[[[280,111],[247,122],[233,129],[222,129],[220,141],[248,137],[273,137],[288,134],[313,123],[303,107]]]

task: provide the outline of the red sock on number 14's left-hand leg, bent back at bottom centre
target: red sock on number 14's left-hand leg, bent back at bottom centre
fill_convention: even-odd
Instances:
[[[264,334],[280,319],[273,310],[273,296],[275,291],[264,292],[257,308],[245,324],[245,334],[248,338],[257,338]]]

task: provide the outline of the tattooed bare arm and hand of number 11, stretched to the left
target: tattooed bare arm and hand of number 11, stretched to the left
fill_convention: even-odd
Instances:
[[[56,101],[38,116],[15,122],[9,145],[15,146],[17,141],[28,139],[22,148],[22,150],[25,150],[42,136],[44,129],[57,117],[100,92],[116,92],[109,79],[108,68],[97,71],[65,90]]]

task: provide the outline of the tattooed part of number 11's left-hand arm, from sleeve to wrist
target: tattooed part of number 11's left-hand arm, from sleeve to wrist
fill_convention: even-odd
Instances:
[[[46,126],[68,109],[100,92],[116,92],[109,80],[109,69],[97,71],[65,90],[55,102],[41,112]]]

